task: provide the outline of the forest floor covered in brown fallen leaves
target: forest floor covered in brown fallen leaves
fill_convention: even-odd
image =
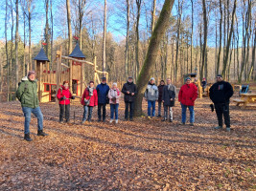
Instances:
[[[230,133],[214,130],[210,100],[198,99],[194,127],[161,118],[81,125],[82,107],[71,105],[71,121],[58,123],[58,106],[40,104],[46,138],[23,139],[18,101],[0,107],[0,190],[255,190],[256,107],[231,103]],[[144,109],[146,112],[146,102]],[[107,118],[109,106],[107,106]]]

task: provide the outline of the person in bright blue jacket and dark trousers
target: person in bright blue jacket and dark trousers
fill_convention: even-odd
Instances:
[[[102,78],[102,83],[96,88],[98,93],[98,121],[102,120],[102,108],[103,108],[103,121],[105,122],[105,105],[108,102],[109,86],[106,84],[106,78]]]

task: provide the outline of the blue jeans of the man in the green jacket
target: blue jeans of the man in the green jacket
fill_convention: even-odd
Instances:
[[[36,107],[36,108],[22,107],[22,111],[25,117],[25,123],[24,123],[25,134],[30,133],[31,113],[34,114],[35,117],[37,118],[38,130],[43,129],[43,115],[40,110],[40,107]]]

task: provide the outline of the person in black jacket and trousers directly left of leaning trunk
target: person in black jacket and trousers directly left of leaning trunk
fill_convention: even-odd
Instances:
[[[134,109],[134,98],[137,95],[137,87],[133,83],[133,78],[128,77],[128,82],[124,84],[122,93],[125,95],[126,111],[125,119],[128,120],[128,108],[129,108],[129,120],[132,120]]]

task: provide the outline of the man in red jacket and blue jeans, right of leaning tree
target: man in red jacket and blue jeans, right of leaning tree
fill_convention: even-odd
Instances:
[[[194,105],[195,100],[198,98],[198,88],[194,83],[191,83],[191,78],[186,78],[186,84],[181,86],[178,93],[178,101],[180,102],[182,109],[182,119],[181,124],[186,123],[186,111],[189,108],[190,111],[190,125],[194,126],[195,122],[195,112]]]

